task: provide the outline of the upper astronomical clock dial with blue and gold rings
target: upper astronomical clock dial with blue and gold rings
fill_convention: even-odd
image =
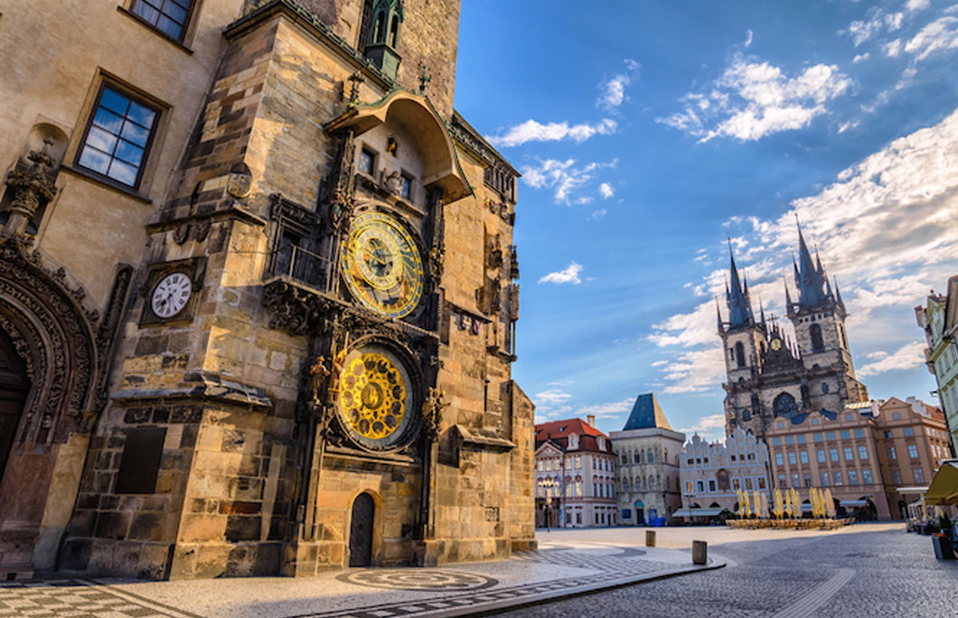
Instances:
[[[409,232],[382,213],[356,217],[343,245],[343,274],[353,295],[388,317],[404,317],[422,298],[422,260]]]

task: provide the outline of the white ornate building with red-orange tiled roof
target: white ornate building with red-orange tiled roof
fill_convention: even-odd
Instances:
[[[593,415],[536,424],[536,525],[612,526],[615,453]]]

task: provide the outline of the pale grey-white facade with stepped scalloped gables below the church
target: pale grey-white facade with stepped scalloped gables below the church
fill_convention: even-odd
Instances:
[[[736,514],[739,490],[772,497],[768,446],[739,427],[724,443],[708,443],[698,434],[685,443],[678,457],[682,481],[682,509],[687,518],[718,515],[715,510]],[[771,502],[769,501],[769,504]],[[709,515],[699,515],[704,510]]]

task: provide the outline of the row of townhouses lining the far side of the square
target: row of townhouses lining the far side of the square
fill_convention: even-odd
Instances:
[[[536,425],[536,525],[703,523],[737,513],[740,492],[795,489],[810,504],[813,487],[832,492],[839,514],[900,519],[949,456],[944,413],[911,397],[776,420],[764,439],[737,427],[710,443],[686,441],[649,393],[607,437],[594,417]]]

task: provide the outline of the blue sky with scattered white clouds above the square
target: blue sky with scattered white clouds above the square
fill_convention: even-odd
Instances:
[[[796,215],[857,378],[937,403],[914,308],[958,273],[956,69],[956,0],[464,0],[456,108],[522,173],[513,378],[536,422],[619,430],[653,392],[723,436],[729,239],[781,315]]]

